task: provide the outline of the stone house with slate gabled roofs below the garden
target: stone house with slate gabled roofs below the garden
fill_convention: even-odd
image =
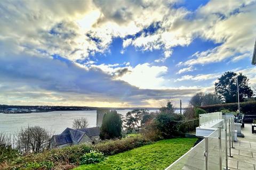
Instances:
[[[61,134],[53,135],[50,148],[62,148],[82,143],[96,143],[100,139],[100,128],[71,129],[67,128]]]

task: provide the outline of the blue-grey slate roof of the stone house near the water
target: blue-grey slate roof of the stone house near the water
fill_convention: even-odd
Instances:
[[[97,135],[100,135],[100,128],[94,127],[94,128],[84,128],[84,129],[71,129],[66,128],[61,134],[53,135],[53,139],[55,142],[55,145],[64,145],[67,143],[72,143],[73,141],[79,142],[83,138],[84,135],[87,135],[88,137],[94,137]]]

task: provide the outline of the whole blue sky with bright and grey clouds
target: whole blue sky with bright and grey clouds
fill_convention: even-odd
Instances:
[[[256,84],[256,1],[1,1],[0,104],[183,106]]]

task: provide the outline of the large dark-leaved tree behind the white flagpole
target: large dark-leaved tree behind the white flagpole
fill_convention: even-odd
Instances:
[[[215,92],[222,101],[226,103],[237,102],[237,74],[234,72],[225,72],[215,83]],[[252,97],[253,91],[248,86],[247,77],[242,73],[238,74],[239,101],[245,101]]]

